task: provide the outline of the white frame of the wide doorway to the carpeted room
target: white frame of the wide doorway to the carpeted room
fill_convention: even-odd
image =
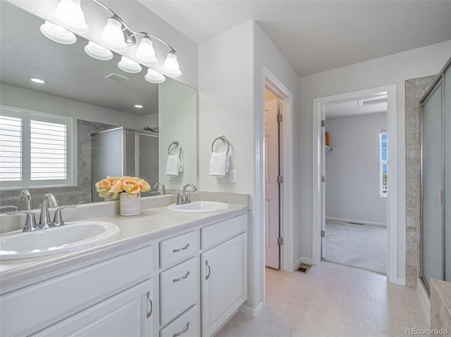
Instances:
[[[321,118],[322,109],[324,106],[350,101],[362,96],[376,96],[381,92],[387,92],[387,131],[390,135],[388,141],[388,219],[387,219],[387,236],[388,236],[388,256],[387,256],[387,276],[388,281],[395,284],[405,284],[405,281],[398,279],[398,265],[397,260],[399,253],[397,251],[398,235],[404,236],[405,231],[400,231],[402,226],[397,224],[397,96],[396,84],[390,84],[383,87],[376,87],[372,89],[364,89],[359,91],[347,92],[345,94],[337,94],[332,96],[325,96],[321,98],[314,98],[312,108],[312,134],[313,134],[313,200],[312,200],[312,262],[319,264],[321,260]],[[325,216],[325,215],[324,215]],[[405,230],[405,229],[404,229]]]

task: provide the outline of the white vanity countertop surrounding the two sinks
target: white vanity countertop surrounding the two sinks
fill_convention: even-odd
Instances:
[[[230,208],[222,212],[184,213],[168,210],[165,205],[141,210],[140,215],[132,217],[109,215],[90,218],[89,220],[113,222],[118,225],[120,231],[111,239],[66,253],[21,260],[1,260],[1,293],[8,292],[8,288],[14,285],[23,286],[31,278],[44,277],[82,262],[123,250],[132,250],[155,239],[242,215],[246,211],[247,205],[230,204]]]

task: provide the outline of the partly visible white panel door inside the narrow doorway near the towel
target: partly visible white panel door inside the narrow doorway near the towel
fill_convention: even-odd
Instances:
[[[265,102],[265,250],[266,266],[279,269],[278,101]]]

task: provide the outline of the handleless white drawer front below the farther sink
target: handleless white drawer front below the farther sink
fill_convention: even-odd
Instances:
[[[247,229],[247,215],[240,215],[228,220],[211,224],[200,229],[201,249],[216,246],[216,244],[231,239]]]

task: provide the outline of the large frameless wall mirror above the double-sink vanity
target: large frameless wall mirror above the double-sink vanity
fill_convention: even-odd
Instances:
[[[147,68],[138,73],[118,68],[121,55],[113,53],[109,61],[99,61],[85,53],[87,40],[77,37],[75,44],[58,44],[41,34],[42,18],[0,0],[1,114],[8,110],[44,113],[73,118],[74,186],[21,186],[8,188],[0,181],[0,205],[16,205],[21,189],[32,195],[32,208],[37,208],[44,193],[53,193],[60,205],[79,201],[103,201],[93,193],[93,177],[104,160],[93,157],[95,152],[121,152],[121,163],[130,157],[128,148],[137,153],[128,158],[139,171],[104,165],[103,175],[135,175],[149,180],[153,186],[162,182],[166,191],[181,189],[185,184],[197,184],[197,92],[195,89],[166,77],[161,84],[144,79]],[[29,77],[47,80],[45,84],[31,82]],[[136,106],[142,106],[136,107]],[[120,128],[123,134],[133,134],[132,141],[103,141],[94,148],[93,135],[112,134]],[[144,138],[143,138],[144,137]],[[131,139],[130,137],[128,139]],[[142,140],[140,140],[142,139]],[[150,140],[150,141],[148,141]],[[95,142],[95,141],[94,141]],[[169,146],[177,142],[178,146]],[[182,151],[183,172],[166,174],[168,155]],[[128,151],[125,153],[125,151]],[[147,171],[144,171],[147,170]],[[153,189],[147,196],[157,195]]]

